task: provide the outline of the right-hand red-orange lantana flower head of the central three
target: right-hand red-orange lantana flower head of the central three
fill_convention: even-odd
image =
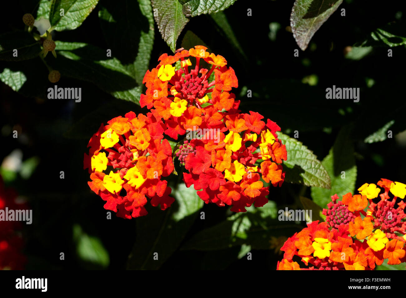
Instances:
[[[207,130],[201,139],[190,141],[188,147],[193,151],[184,158],[188,172],[184,172],[183,180],[187,187],[193,185],[206,204],[232,205],[231,211],[245,212],[245,207],[262,207],[268,202],[269,187],[264,187],[260,178],[273,186],[283,183],[281,163],[287,159],[287,152],[277,139],[280,128],[274,122],[268,119],[265,124],[254,112],[236,117],[240,117],[238,128],[226,115],[225,122],[216,126],[218,130]],[[202,123],[211,129],[209,121]],[[210,133],[218,135],[212,138]],[[263,161],[255,165],[259,159]]]

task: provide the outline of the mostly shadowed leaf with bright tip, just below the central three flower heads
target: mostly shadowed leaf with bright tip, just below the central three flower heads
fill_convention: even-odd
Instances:
[[[169,209],[162,211],[153,207],[148,210],[147,216],[137,218],[136,242],[129,256],[128,269],[160,268],[179,247],[196,220],[203,200],[197,196],[194,188],[187,188],[181,183],[172,194],[176,201]],[[158,253],[158,260],[154,260],[155,252]]]

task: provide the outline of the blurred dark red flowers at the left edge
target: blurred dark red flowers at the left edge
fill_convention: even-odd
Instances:
[[[0,210],[26,210],[26,204],[16,201],[13,189],[6,189],[0,176]],[[26,257],[22,254],[24,241],[17,233],[21,222],[0,221],[0,270],[23,270]]]

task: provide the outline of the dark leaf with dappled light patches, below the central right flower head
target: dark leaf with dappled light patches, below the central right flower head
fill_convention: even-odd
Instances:
[[[195,234],[181,250],[222,250],[243,244],[252,249],[271,249],[271,237],[293,235],[301,228],[291,222],[276,220],[277,213],[272,201],[263,207],[249,207],[246,213],[235,213]]]

